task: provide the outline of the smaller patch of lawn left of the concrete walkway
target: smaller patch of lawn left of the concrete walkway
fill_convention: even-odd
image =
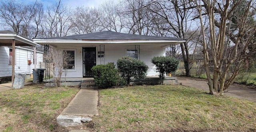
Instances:
[[[68,132],[70,129],[58,125],[56,118],[78,90],[32,84],[0,92],[0,132]]]

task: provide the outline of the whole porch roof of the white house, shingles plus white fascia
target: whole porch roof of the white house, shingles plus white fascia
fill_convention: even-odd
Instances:
[[[155,43],[160,45],[180,44],[186,42],[183,38],[161,37],[161,36],[146,36],[138,34],[124,34],[119,32],[104,31],[82,35],[72,35],[64,37],[50,38],[34,38],[34,42],[39,44],[49,44],[54,47],[65,43],[76,43],[78,45],[90,43],[96,44],[148,44]],[[72,44],[73,45],[73,44]],[[75,46],[75,45],[74,45]]]

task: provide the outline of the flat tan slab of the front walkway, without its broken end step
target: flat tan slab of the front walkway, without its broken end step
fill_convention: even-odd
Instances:
[[[94,116],[98,115],[98,90],[80,89],[62,115]]]

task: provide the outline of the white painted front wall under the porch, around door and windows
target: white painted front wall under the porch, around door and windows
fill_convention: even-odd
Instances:
[[[81,46],[77,48],[73,48],[76,50],[76,66],[75,70],[68,70],[67,78],[82,78],[83,77],[83,68],[82,68],[82,47],[93,47],[93,46]],[[100,51],[100,46],[96,47],[96,64],[100,64],[100,58],[98,58],[98,51]],[[70,47],[59,47],[62,49],[72,49]],[[105,64],[108,62],[111,62],[116,65],[116,62],[119,58],[126,56],[126,49],[135,49],[135,46],[120,46],[120,45],[114,45],[114,46],[106,46],[105,45]],[[164,56],[165,55],[165,48],[161,47],[150,47],[146,45],[140,46],[140,60],[144,61],[149,69],[148,69],[148,75],[147,76],[156,76],[158,75],[157,72],[155,72],[155,66],[151,63],[151,58],[154,56]],[[62,74],[62,77],[65,75]]]

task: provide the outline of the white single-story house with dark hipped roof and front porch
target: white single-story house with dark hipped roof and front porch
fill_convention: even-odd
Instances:
[[[112,31],[96,32],[64,37],[34,38],[38,44],[64,49],[74,58],[70,62],[67,78],[92,77],[92,66],[114,63],[118,58],[131,56],[144,61],[148,66],[147,76],[155,76],[151,63],[154,56],[165,56],[165,48],[186,42],[182,38],[124,34]]]

